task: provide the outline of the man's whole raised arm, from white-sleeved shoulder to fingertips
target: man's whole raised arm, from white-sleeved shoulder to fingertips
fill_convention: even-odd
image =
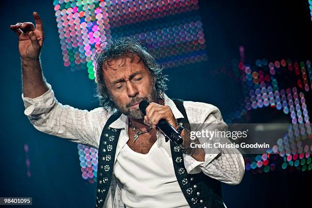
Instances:
[[[110,116],[103,108],[92,111],[62,105],[42,74],[39,55],[43,45],[42,21],[33,13],[31,22],[10,25],[18,36],[22,65],[24,114],[36,129],[70,141],[98,147],[102,127]]]

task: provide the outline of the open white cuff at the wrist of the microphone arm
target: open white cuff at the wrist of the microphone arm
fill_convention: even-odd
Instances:
[[[189,174],[200,173],[203,169],[209,165],[218,154],[220,154],[220,150],[217,148],[211,149],[212,151],[209,154],[205,154],[205,161],[197,161],[191,155],[185,154],[185,168],[187,169]]]

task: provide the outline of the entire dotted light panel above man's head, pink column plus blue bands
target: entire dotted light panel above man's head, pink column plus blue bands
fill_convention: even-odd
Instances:
[[[87,69],[112,37],[136,37],[165,68],[207,59],[197,0],[55,0],[62,54],[71,70]]]

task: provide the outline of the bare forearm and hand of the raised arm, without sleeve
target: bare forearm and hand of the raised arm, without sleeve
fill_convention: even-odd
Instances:
[[[40,16],[33,13],[36,28],[32,22],[18,22],[10,28],[18,36],[18,49],[22,65],[23,94],[25,97],[35,98],[48,90],[39,55],[43,45],[43,27]]]

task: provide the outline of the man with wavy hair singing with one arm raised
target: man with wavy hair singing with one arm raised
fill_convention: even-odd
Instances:
[[[39,131],[98,149],[96,207],[226,207],[221,182],[239,184],[244,160],[237,149],[190,148],[190,123],[224,123],[207,103],[172,100],[166,77],[135,40],[102,44],[95,56],[101,107],[79,110],[57,101],[42,74],[39,15],[10,25],[18,36],[25,115]],[[106,45],[105,45],[106,44]],[[148,100],[146,115],[139,103]],[[184,139],[166,142],[166,120]],[[195,140],[199,142],[199,140]]]

